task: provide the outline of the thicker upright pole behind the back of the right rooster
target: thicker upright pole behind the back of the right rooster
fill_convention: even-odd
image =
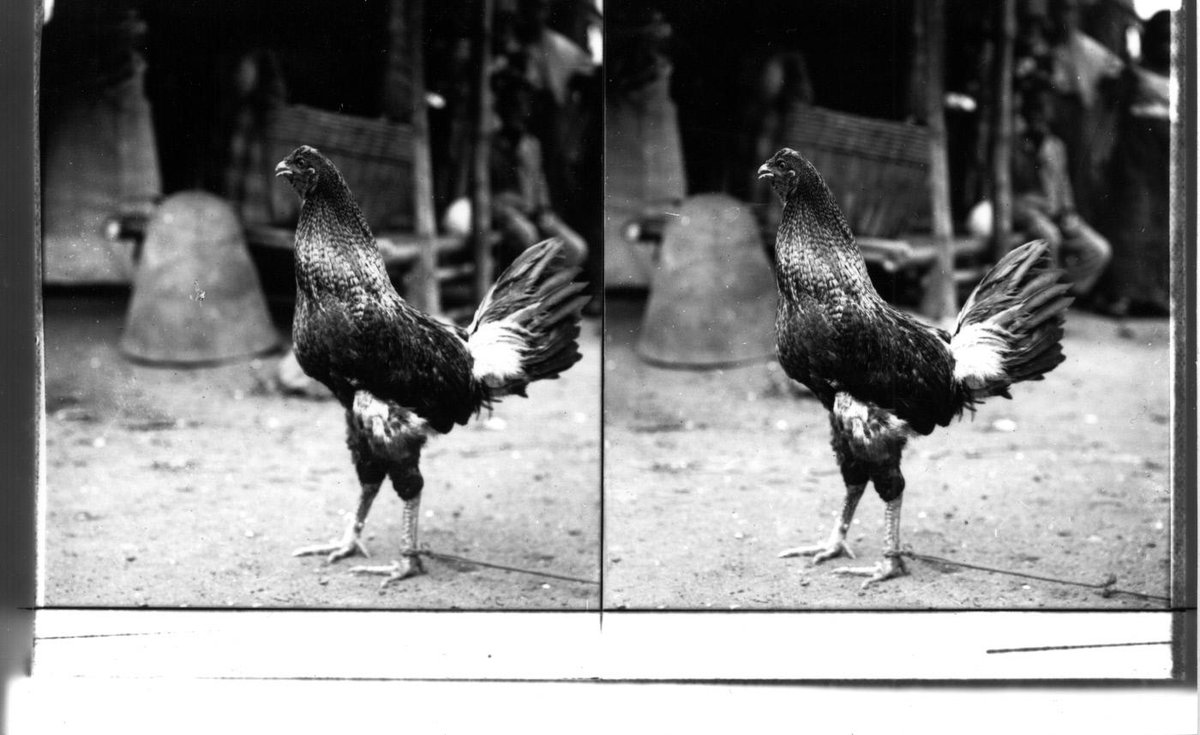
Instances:
[[[958,312],[954,286],[954,221],[950,214],[950,166],[946,142],[944,66],[946,0],[917,0],[918,54],[925,67],[924,112],[929,130],[929,198],[937,258],[930,273],[922,312],[936,321]]]

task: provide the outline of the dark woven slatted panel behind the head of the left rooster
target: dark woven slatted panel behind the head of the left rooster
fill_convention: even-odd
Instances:
[[[374,231],[413,229],[412,127],[301,104],[280,108],[266,132],[270,167],[299,145],[320,150],[342,172]],[[268,177],[274,175],[268,172]],[[300,202],[287,186],[268,189],[271,223],[293,226]]]

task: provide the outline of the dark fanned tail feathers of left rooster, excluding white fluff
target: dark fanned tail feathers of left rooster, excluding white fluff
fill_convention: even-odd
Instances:
[[[578,268],[565,267],[560,240],[545,240],[522,252],[488,291],[468,331],[508,321],[520,328],[523,376],[506,386],[523,394],[533,381],[558,377],[581,359],[578,336],[581,311],[590,300],[580,294],[587,283],[575,282]]]

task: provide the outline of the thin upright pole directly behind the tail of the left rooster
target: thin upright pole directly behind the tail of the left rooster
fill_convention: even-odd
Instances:
[[[472,241],[475,255],[475,298],[482,300],[492,285],[492,251],[488,234],[492,229],[492,192],[488,175],[491,150],[491,55],[493,0],[481,0],[479,25],[475,29],[475,141],[472,151]]]

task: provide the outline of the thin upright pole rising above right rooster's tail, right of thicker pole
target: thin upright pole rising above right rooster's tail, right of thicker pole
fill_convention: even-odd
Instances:
[[[1013,42],[1016,38],[1016,0],[996,0],[996,52],[992,54],[995,88],[991,143],[992,253],[1000,259],[1013,232]]]

